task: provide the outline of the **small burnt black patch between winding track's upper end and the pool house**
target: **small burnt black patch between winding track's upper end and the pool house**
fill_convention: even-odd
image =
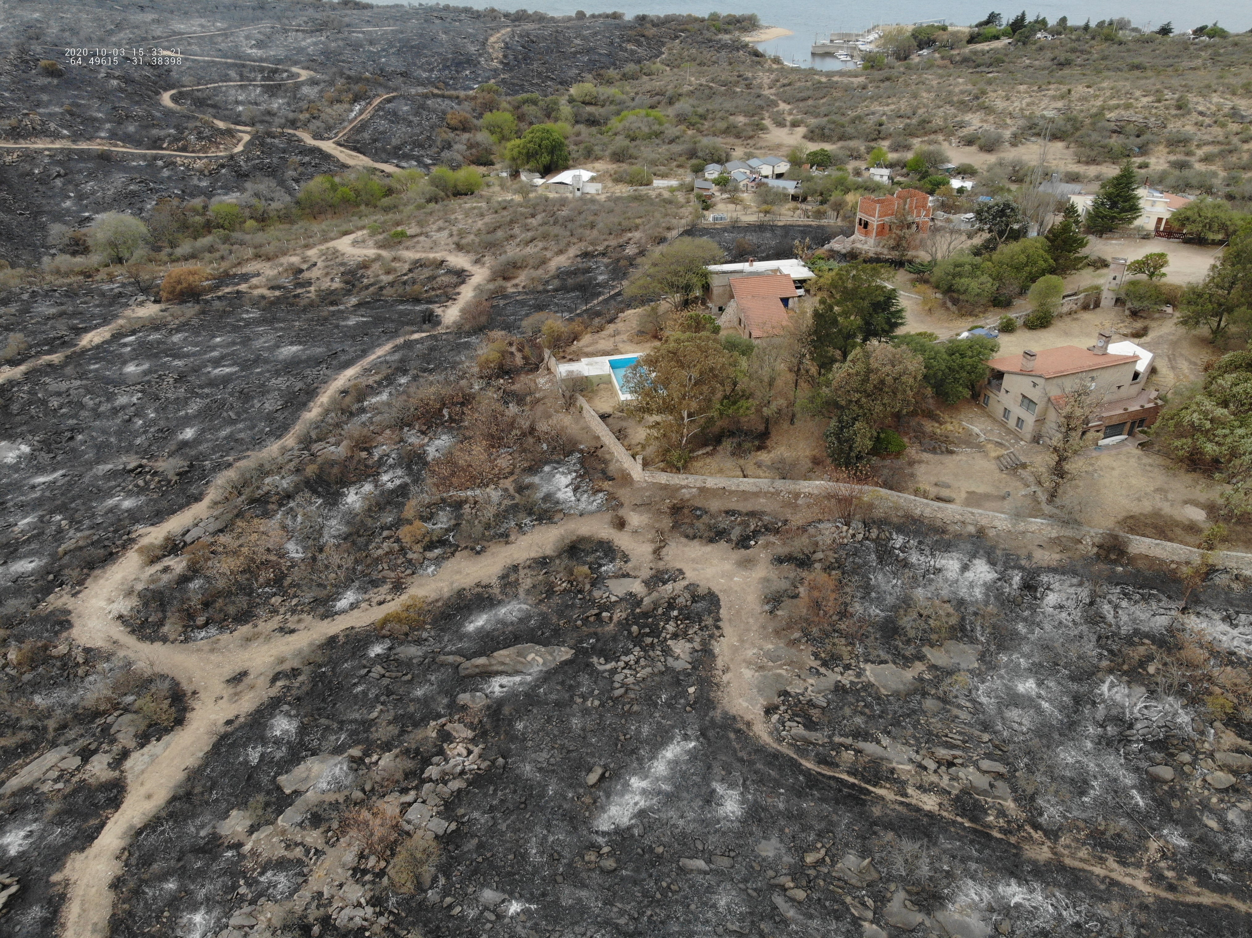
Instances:
[[[581,315],[590,321],[611,319],[630,306],[620,294],[627,273],[629,259],[580,259],[558,268],[540,289],[495,296],[491,328],[517,331],[522,320],[536,313],[555,313],[561,318]]]

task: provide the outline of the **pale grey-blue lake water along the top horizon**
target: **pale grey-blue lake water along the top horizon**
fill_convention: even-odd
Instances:
[[[691,13],[700,16],[711,10],[720,13],[755,13],[762,24],[791,30],[793,35],[760,43],[761,51],[779,55],[785,61],[819,69],[841,68],[830,56],[809,55],[809,48],[815,39],[826,39],[831,31],[861,31],[876,23],[920,23],[923,20],[945,19],[953,25],[978,23],[990,10],[998,10],[1004,19],[1012,19],[1018,8],[993,5],[992,0],[952,0],[947,4],[921,3],[921,0],[879,0],[875,4],[851,4],[846,0],[782,0],[759,5],[760,0],[740,0],[722,6],[712,0],[617,0],[612,5],[597,6],[591,0],[541,0],[525,9],[541,10],[553,16],[570,16],[576,10],[601,13],[620,10],[627,18],[640,13],[666,14]],[[468,4],[470,6],[491,6],[506,9],[505,4]],[[1080,24],[1088,16],[1092,23],[1102,19],[1127,16],[1142,29],[1156,29],[1162,23],[1172,21],[1178,30],[1193,29],[1202,24],[1221,23],[1232,33],[1252,29],[1252,3],[1248,0],[1192,0],[1186,10],[1178,8],[1176,0],[1088,0],[1075,4],[1064,0],[1043,0],[1029,4],[1027,14],[1047,16],[1055,21],[1068,16],[1070,23]]]

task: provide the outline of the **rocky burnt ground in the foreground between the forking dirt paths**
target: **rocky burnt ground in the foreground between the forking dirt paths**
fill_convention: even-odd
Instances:
[[[580,568],[591,574],[588,592],[567,585],[585,575]],[[866,800],[762,747],[716,709],[707,650],[690,655],[690,669],[670,659],[613,697],[612,670],[598,662],[632,649],[644,658],[645,639],[666,627],[707,649],[720,617],[716,595],[699,588],[681,590],[690,602],[672,609],[645,612],[634,597],[607,602],[600,584],[626,568],[629,558],[606,545],[580,544],[522,564],[493,592],[458,595],[421,640],[366,632],[327,643],[263,710],[219,739],[195,779],[136,837],[113,934],[193,925],[214,934],[242,909],[282,914],[272,934],[305,935],[314,924],[341,934],[336,922],[358,903],[364,927],[386,920],[409,934],[853,938],[863,929],[849,902],[864,912],[871,900],[881,922],[893,895],[949,915],[954,928],[952,915],[980,919],[959,934],[987,934],[992,920],[1038,938],[1239,933],[1239,915],[1146,903],[1116,883],[1032,863],[959,824]],[[588,607],[613,610],[616,620],[583,618],[577,628]],[[565,645],[573,657],[531,677],[457,677],[458,658],[520,643]],[[458,694],[475,692],[488,698],[481,710],[458,705]],[[432,723],[442,718],[457,727]],[[423,788],[421,767],[441,762],[432,757],[466,730],[467,745],[485,747],[488,768],[433,799],[456,828],[439,838],[424,892],[391,889],[373,857],[359,857],[346,884],[303,888],[305,870],[329,858],[334,832],[346,830],[347,809],[381,807],[388,789],[394,798],[422,788],[427,798],[436,785]],[[282,794],[275,778],[318,754],[344,754],[351,777],[329,788],[343,792],[336,800],[287,827],[277,819],[295,795]],[[379,757],[406,767],[403,777],[372,769]],[[503,762],[491,767],[496,759]],[[596,765],[607,774],[588,784]],[[346,798],[348,788],[359,795]],[[232,815],[234,833],[219,839],[213,830]],[[865,885],[833,872],[846,853],[856,854]],[[861,858],[873,865],[863,870]]]

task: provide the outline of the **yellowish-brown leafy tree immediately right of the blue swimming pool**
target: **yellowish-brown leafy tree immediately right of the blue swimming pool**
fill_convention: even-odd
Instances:
[[[674,333],[627,369],[626,386],[635,395],[630,410],[655,418],[650,438],[681,469],[691,438],[725,415],[724,400],[741,368],[739,355],[712,333]]]

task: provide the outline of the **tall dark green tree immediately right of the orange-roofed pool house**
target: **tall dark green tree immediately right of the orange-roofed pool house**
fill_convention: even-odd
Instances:
[[[893,273],[881,264],[854,260],[810,281],[818,296],[810,348],[819,370],[846,361],[861,343],[891,335],[904,325],[899,293],[884,283]]]

